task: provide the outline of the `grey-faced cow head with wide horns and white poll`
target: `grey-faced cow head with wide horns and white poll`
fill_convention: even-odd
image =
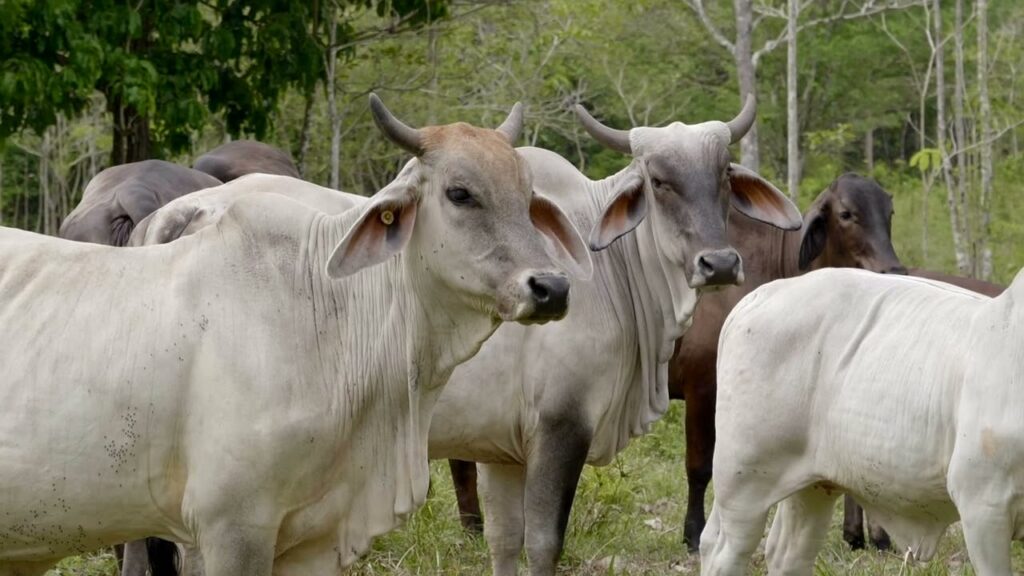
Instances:
[[[756,107],[748,98],[729,122],[662,128],[609,128],[577,106],[587,131],[604,146],[632,155],[632,176],[623,178],[591,235],[591,248],[605,248],[653,212],[658,245],[669,261],[682,266],[691,288],[739,284],[739,253],[729,245],[729,204],[756,220],[784,230],[800,228],[800,211],[767,180],[730,162],[729,145],[754,123]]]

